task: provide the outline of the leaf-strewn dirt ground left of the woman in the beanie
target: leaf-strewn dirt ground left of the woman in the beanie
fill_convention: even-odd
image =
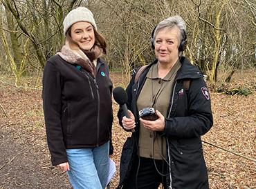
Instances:
[[[70,188],[49,161],[40,91],[0,88],[0,188]]]

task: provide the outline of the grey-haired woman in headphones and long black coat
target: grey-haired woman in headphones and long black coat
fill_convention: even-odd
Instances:
[[[201,135],[212,127],[210,96],[203,75],[181,57],[185,30],[179,16],[158,23],[156,61],[134,72],[127,87],[130,118],[120,108],[118,119],[135,132],[122,149],[119,188],[209,188]]]

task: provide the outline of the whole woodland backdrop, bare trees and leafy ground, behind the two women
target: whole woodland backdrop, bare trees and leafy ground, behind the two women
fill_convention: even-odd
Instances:
[[[184,55],[207,75],[214,126],[203,137],[210,188],[256,188],[255,0],[1,0],[0,188],[70,188],[51,166],[42,111],[42,71],[64,44],[62,21],[86,6],[107,39],[114,87],[154,59],[156,24],[179,14],[187,23]],[[118,106],[113,103],[114,113]],[[113,124],[117,166],[129,133]],[[118,172],[111,183],[118,183]]]

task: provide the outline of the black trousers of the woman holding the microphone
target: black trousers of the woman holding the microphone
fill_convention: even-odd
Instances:
[[[167,188],[166,176],[163,176],[166,175],[166,170],[167,166],[163,160],[138,157],[122,189],[157,189],[160,183],[163,184],[163,188]]]

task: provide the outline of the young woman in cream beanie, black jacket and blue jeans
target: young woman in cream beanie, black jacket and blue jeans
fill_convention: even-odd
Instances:
[[[92,12],[79,7],[63,22],[65,45],[44,68],[43,100],[53,166],[73,188],[105,188],[113,121],[106,42]]]

